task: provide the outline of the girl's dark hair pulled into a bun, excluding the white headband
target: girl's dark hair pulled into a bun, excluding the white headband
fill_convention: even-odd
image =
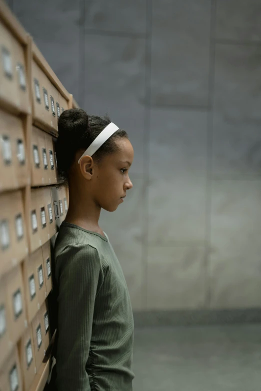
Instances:
[[[108,116],[103,118],[87,113],[79,108],[63,111],[58,120],[58,138],[55,142],[59,181],[67,183],[68,171],[73,163],[75,153],[79,149],[87,149],[99,133],[110,123]],[[119,137],[128,138],[124,130],[117,130],[92,155],[94,161],[99,161],[105,155],[118,150],[115,140]]]

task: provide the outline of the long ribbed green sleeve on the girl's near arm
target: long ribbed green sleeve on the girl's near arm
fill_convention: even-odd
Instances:
[[[103,282],[98,252],[89,245],[67,246],[57,257],[58,391],[89,391],[88,360],[96,294]]]

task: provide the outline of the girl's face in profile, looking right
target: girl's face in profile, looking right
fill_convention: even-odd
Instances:
[[[123,202],[126,191],[133,187],[129,168],[133,160],[133,148],[127,138],[116,140],[119,150],[106,155],[95,166],[92,190],[95,202],[109,212]]]

